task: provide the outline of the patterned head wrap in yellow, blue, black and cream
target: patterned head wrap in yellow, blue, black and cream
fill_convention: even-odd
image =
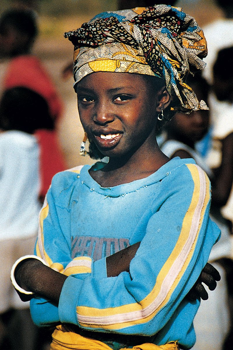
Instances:
[[[185,84],[189,73],[205,68],[207,47],[203,31],[181,8],[105,12],[65,37],[74,44],[74,88],[92,72],[145,74],[165,80],[173,111],[208,109]]]

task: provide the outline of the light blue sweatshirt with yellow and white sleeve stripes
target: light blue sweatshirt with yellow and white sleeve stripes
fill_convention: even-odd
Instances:
[[[220,236],[209,218],[209,179],[194,160],[174,158],[144,179],[103,188],[89,168],[55,175],[48,191],[36,254],[68,278],[58,307],[31,300],[34,322],[78,325],[114,349],[129,335],[128,347],[140,335],[191,348],[199,301],[185,296]],[[130,272],[108,278],[106,256],[138,241]]]

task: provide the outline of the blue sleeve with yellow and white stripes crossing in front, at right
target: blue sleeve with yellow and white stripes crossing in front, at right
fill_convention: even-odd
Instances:
[[[158,199],[151,205],[152,216],[130,272],[102,279],[68,277],[58,307],[61,322],[151,336],[169,321],[220,235],[209,218],[209,179],[195,164],[184,167],[185,177],[176,173],[177,180],[168,173],[162,180],[164,201],[157,209]]]

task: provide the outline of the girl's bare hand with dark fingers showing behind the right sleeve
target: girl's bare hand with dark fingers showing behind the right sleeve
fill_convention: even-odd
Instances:
[[[216,281],[220,281],[220,279],[221,277],[218,270],[216,270],[215,267],[207,262],[195,285],[190,289],[187,295],[188,298],[190,300],[196,300],[198,298],[207,300],[208,293],[206,292],[202,283],[205,283],[205,285],[208,286],[210,290],[214,290],[217,286]]]

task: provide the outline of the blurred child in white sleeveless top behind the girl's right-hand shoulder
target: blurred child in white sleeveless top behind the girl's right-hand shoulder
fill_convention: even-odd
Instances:
[[[209,85],[200,75],[187,79],[187,84],[195,91],[198,100],[208,100]],[[201,154],[197,151],[196,142],[201,140],[209,127],[209,111],[195,111],[191,114],[176,113],[175,117],[165,127],[165,141],[160,146],[163,153],[169,158],[194,158],[196,163],[208,174],[213,182],[212,197],[216,198],[214,174]],[[216,183],[216,182],[215,182]],[[221,229],[221,238],[213,246],[209,262],[213,264],[221,275],[221,281],[209,299],[201,303],[194,319],[196,343],[194,350],[221,350],[231,349],[224,347],[225,339],[231,328],[230,297],[232,288],[232,260],[230,229],[223,218],[218,204],[211,204],[210,215]]]

